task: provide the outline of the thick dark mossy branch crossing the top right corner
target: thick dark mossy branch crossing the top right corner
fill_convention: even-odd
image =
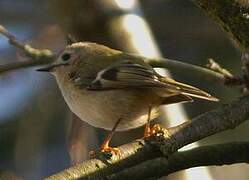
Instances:
[[[249,2],[244,0],[192,0],[205,10],[242,51],[249,50]]]

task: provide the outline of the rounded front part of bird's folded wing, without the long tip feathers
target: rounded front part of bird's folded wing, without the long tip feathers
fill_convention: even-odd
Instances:
[[[158,74],[150,66],[132,61],[122,61],[100,71],[89,90],[165,87]]]

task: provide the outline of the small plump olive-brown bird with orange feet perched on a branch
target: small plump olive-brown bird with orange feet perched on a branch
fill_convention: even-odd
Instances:
[[[144,59],[104,45],[78,42],[38,71],[55,76],[69,108],[81,120],[111,130],[100,150],[118,153],[109,147],[114,132],[145,125],[144,137],[150,136],[150,120],[158,116],[160,105],[189,102],[192,97],[218,101],[196,87],[159,75]]]

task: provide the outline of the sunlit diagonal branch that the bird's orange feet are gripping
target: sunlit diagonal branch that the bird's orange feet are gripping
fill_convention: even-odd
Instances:
[[[192,121],[172,127],[168,131],[152,136],[146,140],[140,139],[120,147],[122,156],[107,158],[104,154],[96,159],[85,161],[70,167],[47,179],[101,179],[101,177],[119,172],[155,157],[170,156],[179,148],[203,139],[212,134],[233,129],[249,117],[249,95],[232,102],[229,105],[204,113]]]

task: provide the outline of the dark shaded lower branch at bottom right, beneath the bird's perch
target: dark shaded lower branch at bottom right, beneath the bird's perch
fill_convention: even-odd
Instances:
[[[162,177],[171,173],[198,166],[249,163],[249,142],[233,142],[194,148],[177,152],[168,159],[159,157],[124,169],[107,179],[145,179]]]

